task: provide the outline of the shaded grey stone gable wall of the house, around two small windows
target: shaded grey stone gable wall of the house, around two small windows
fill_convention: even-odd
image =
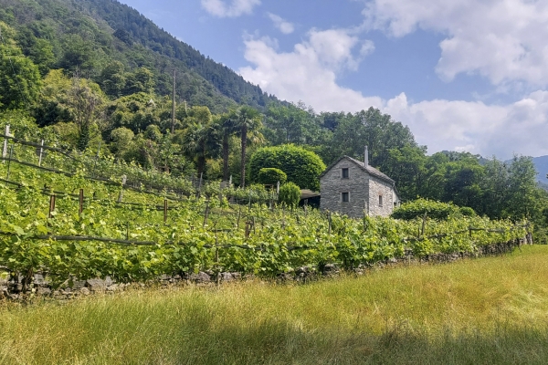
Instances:
[[[348,168],[348,179],[342,178],[343,168]],[[364,216],[364,206],[369,196],[368,181],[368,173],[353,162],[341,160],[320,179],[320,208],[356,218]],[[349,202],[342,202],[342,193],[350,193]]]

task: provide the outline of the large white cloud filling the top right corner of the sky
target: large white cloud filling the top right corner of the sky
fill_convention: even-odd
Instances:
[[[365,26],[392,36],[416,28],[447,37],[440,43],[440,78],[479,73],[495,85],[548,85],[548,2],[535,0],[373,0]]]

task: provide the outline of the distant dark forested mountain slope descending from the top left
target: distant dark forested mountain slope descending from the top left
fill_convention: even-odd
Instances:
[[[100,81],[118,60],[126,70],[151,69],[160,95],[170,95],[175,68],[178,98],[213,111],[236,103],[262,110],[279,101],[115,0],[0,0],[0,21],[24,35],[24,49],[40,39],[53,45],[54,57],[44,68],[78,68]]]

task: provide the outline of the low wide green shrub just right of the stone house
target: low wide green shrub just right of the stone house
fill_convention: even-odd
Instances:
[[[473,210],[472,210],[473,212]],[[453,203],[441,203],[427,199],[417,199],[403,203],[394,210],[392,217],[395,219],[412,220],[427,214],[432,219],[448,219],[450,215],[460,214],[460,208]]]

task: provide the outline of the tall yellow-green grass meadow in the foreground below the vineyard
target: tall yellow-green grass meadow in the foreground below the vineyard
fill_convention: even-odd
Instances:
[[[548,246],[309,285],[0,308],[2,364],[548,363]]]

